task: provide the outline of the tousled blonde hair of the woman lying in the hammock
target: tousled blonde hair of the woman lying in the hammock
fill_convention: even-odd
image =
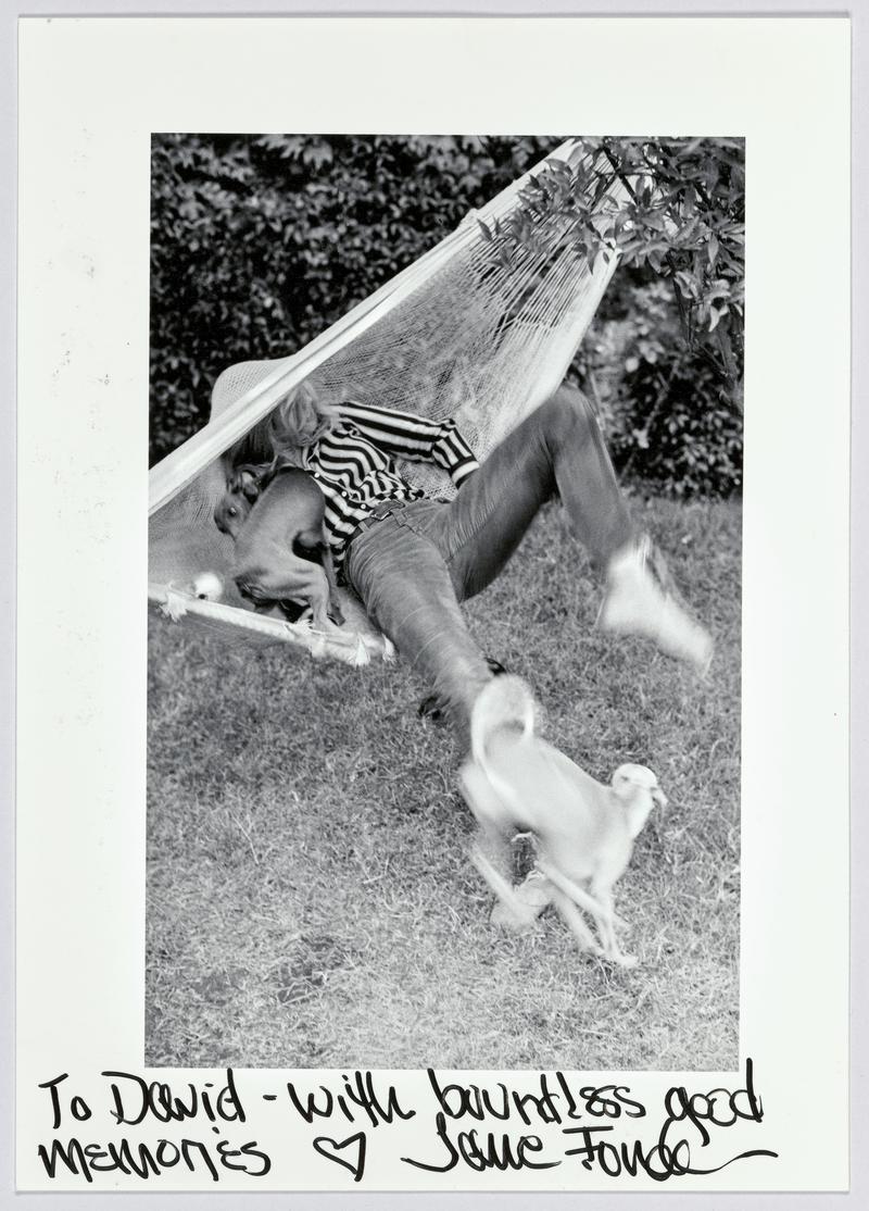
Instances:
[[[305,379],[228,450],[229,469],[253,466],[265,471],[277,463],[303,466],[306,448],[328,434],[338,418],[338,408],[321,400]]]

